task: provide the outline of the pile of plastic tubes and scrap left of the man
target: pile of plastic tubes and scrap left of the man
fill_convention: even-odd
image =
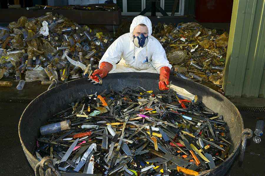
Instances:
[[[62,15],[21,16],[7,28],[0,27],[0,79],[15,75],[20,80],[25,73],[26,82],[46,84],[49,79],[47,84],[51,84],[87,76],[98,67],[96,62],[112,41],[101,29],[80,26]],[[89,68],[70,64],[67,56]]]

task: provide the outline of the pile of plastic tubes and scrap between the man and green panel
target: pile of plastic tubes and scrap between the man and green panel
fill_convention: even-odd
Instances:
[[[198,23],[153,26],[153,36],[163,45],[174,73],[184,79],[223,84],[228,33]]]

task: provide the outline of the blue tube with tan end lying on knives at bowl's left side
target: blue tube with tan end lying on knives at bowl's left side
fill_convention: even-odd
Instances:
[[[62,122],[57,122],[57,123],[51,123],[48,125],[44,125],[40,127],[40,132],[42,136],[47,135],[47,134],[52,134],[52,133],[57,133],[59,131],[64,131],[67,129],[70,129],[70,120],[62,121]]]

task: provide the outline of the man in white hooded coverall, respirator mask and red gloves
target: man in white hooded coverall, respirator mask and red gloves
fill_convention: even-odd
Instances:
[[[130,33],[121,35],[110,45],[91,79],[98,81],[96,74],[103,78],[108,73],[117,72],[160,73],[159,89],[167,90],[172,65],[169,64],[160,42],[151,34],[150,19],[136,16],[132,20]]]

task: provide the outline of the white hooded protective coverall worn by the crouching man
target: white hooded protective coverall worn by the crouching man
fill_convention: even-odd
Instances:
[[[148,43],[143,48],[138,48],[133,43],[133,30],[139,24],[145,24],[148,28]],[[151,72],[160,73],[161,67],[169,67],[165,50],[160,42],[152,35],[152,24],[148,17],[137,16],[130,26],[130,33],[126,33],[117,38],[107,49],[99,62],[109,62],[112,70],[109,73],[117,72]],[[135,59],[133,59],[135,56]],[[146,60],[148,56],[148,62]],[[120,61],[120,62],[119,62]],[[117,62],[119,62],[117,64]]]

